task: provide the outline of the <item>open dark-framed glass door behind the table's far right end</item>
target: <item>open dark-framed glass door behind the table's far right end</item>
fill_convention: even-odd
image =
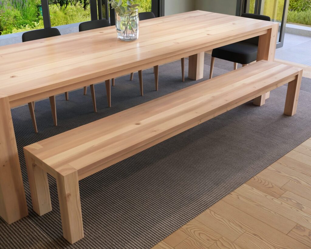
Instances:
[[[289,0],[242,0],[243,13],[253,13],[270,16],[271,21],[279,23],[276,47],[282,47]]]

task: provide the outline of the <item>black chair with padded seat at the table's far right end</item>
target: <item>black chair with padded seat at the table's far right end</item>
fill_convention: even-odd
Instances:
[[[271,21],[269,16],[244,13],[241,17]],[[210,79],[213,77],[215,58],[234,62],[234,70],[238,68],[238,63],[247,66],[249,63],[257,60],[259,37],[249,38],[247,40],[215,48],[212,51]]]

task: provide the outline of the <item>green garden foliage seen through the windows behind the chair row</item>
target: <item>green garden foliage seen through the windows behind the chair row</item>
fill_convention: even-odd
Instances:
[[[151,0],[134,2],[140,4],[139,12],[151,11]],[[0,34],[43,29],[39,4],[40,0],[0,0]],[[52,27],[91,20],[89,0],[49,0],[49,11]]]

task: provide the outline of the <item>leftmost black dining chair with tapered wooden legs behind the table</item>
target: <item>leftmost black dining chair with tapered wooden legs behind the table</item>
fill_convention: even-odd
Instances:
[[[28,31],[22,34],[22,42],[28,42],[53,36],[60,35],[59,30],[56,28],[46,28],[46,29],[37,29]],[[68,99],[68,92],[65,93],[66,99]],[[49,97],[51,110],[53,115],[54,125],[57,126],[57,116],[56,116],[56,104],[55,104],[55,96]],[[34,125],[35,133],[38,133],[36,119],[35,119],[35,102],[28,103],[32,123]]]

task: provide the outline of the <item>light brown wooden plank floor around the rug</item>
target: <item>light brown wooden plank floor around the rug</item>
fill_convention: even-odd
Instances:
[[[311,248],[311,138],[153,248]]]

